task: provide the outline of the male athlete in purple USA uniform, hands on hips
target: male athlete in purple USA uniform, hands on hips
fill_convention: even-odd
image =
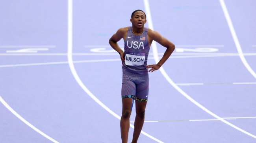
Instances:
[[[148,101],[148,72],[158,70],[171,56],[175,49],[172,42],[153,31],[144,24],[146,14],[142,10],[132,13],[131,27],[118,29],[109,39],[109,44],[120,54],[122,61],[122,116],[120,121],[122,143],[127,143],[130,128],[130,115],[135,100],[136,117],[132,143],[137,143],[145,119],[145,109]],[[124,51],[118,41],[124,39]],[[152,41],[166,47],[163,57],[157,64],[147,65],[148,52]]]

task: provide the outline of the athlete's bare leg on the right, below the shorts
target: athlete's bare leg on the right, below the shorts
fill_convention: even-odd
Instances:
[[[134,135],[132,138],[132,143],[137,143],[139,138],[139,134],[141,133],[141,129],[144,124],[145,119],[145,109],[146,109],[147,101],[135,101],[136,106],[136,117],[134,122]]]

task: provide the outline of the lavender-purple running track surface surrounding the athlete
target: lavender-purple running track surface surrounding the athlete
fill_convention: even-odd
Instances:
[[[122,69],[108,40],[142,9],[176,50],[149,74],[138,142],[256,143],[256,1],[224,0],[229,17],[221,2],[0,1],[0,142],[120,143]],[[148,64],[164,51],[152,46]]]

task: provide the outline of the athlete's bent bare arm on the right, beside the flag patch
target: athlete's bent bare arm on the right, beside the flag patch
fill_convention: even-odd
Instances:
[[[167,40],[165,37],[161,36],[161,34],[159,34],[156,31],[152,31],[151,29],[148,29],[148,40],[150,41],[150,43],[154,40],[160,43],[163,47],[166,47],[166,51],[163,54],[163,57],[157,64],[147,65],[147,69],[151,68],[148,72],[150,71],[153,72],[160,69],[163,63],[165,63],[165,61],[169,58],[169,56],[171,56],[171,54],[175,49],[175,45],[169,40]]]

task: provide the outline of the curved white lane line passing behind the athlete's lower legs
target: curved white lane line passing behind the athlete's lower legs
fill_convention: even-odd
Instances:
[[[69,62],[69,67],[70,70],[75,78],[75,80],[78,82],[78,84],[80,85],[80,87],[82,87],[82,89],[96,102],[98,103],[102,108],[104,108],[105,110],[107,110],[111,115],[113,115],[115,118],[117,119],[121,119],[120,116],[118,116],[115,112],[113,112],[111,109],[109,109],[106,105],[104,105],[104,103],[102,103],[100,100],[98,100],[98,98],[96,98],[96,96],[93,95],[93,93],[91,91],[89,91],[89,89],[87,89],[87,87],[83,84],[82,80],[79,78],[76,69],[74,67],[74,63],[73,63],[73,59],[72,59],[72,45],[73,45],[73,32],[72,32],[72,0],[68,0],[68,62]],[[134,125],[130,124],[130,127],[132,127],[134,129]],[[144,134],[145,136],[147,136],[148,138],[151,138],[155,141],[157,141],[158,143],[163,143],[162,141],[160,141],[157,138],[154,138],[153,136],[147,134],[146,132],[141,130],[141,134]]]

